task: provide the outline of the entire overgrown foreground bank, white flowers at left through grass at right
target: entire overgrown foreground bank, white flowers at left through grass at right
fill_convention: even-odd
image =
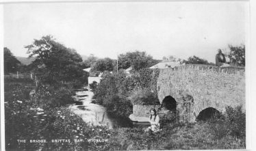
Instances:
[[[49,85],[48,85],[49,86]],[[36,87],[29,79],[5,79],[6,150],[191,150],[244,149],[245,114],[229,108],[225,119],[196,124],[164,123],[159,133],[144,128],[91,126],[68,109],[72,91]],[[58,94],[55,94],[55,93]],[[62,99],[62,96],[65,100]],[[62,102],[64,101],[64,102]],[[69,101],[69,102],[68,102]],[[56,104],[57,103],[57,104]],[[18,143],[25,139],[26,143]],[[45,139],[47,143],[29,143]],[[68,142],[52,142],[65,139]],[[81,142],[75,142],[81,139]],[[106,142],[97,140],[107,139]]]

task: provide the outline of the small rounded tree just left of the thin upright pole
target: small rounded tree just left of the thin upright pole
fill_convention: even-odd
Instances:
[[[92,65],[92,71],[113,71],[114,69],[114,62],[112,59],[106,57],[104,59],[98,59],[93,65]]]

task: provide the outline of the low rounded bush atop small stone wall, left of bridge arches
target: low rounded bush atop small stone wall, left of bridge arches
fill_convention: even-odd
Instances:
[[[133,105],[159,105],[158,98],[148,89],[133,90],[129,99]]]

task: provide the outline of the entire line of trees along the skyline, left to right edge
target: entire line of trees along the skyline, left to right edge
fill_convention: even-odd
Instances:
[[[40,40],[34,40],[32,44],[25,46],[29,57],[36,57],[28,66],[21,64],[12,54],[10,49],[4,48],[4,71],[10,72],[35,72],[40,79],[52,83],[56,81],[72,81],[75,77],[83,77],[84,68],[91,68],[91,72],[104,72],[125,70],[131,67],[138,71],[142,68],[149,68],[161,60],[153,59],[145,51],[132,51],[118,55],[118,60],[109,57],[99,58],[90,55],[88,59],[82,60],[81,55],[75,49],[70,49],[57,42],[53,36],[43,36]],[[245,66],[245,46],[229,45],[229,53],[225,56],[229,58],[228,64]],[[208,64],[212,62],[202,59],[196,55],[188,57],[186,64]]]

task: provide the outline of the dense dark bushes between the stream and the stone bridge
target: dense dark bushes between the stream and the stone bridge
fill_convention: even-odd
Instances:
[[[149,89],[147,92],[149,92],[149,96],[153,98],[150,100],[159,102],[157,98],[158,75],[159,70],[150,69],[142,69],[131,76],[127,76],[124,70],[120,70],[118,73],[114,72],[113,74],[105,72],[101,83],[99,83],[94,91],[94,102],[104,105],[110,112],[128,117],[128,113],[131,113],[132,109],[128,97],[133,90],[133,93],[136,93],[136,90],[139,88],[144,90]],[[148,97],[146,96],[146,92],[144,94],[144,97]],[[127,107],[126,110],[125,107]]]

